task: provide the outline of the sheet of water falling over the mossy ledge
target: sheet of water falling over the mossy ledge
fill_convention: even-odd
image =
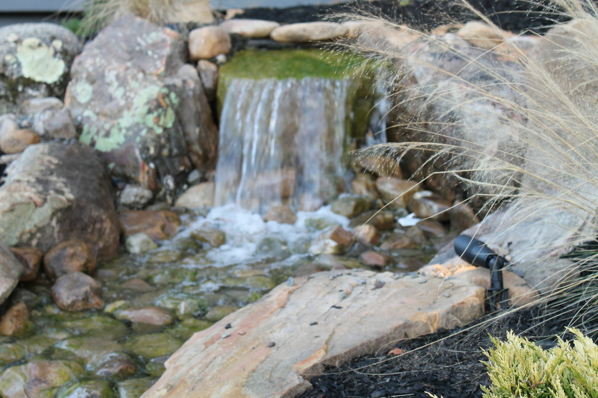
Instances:
[[[314,210],[343,185],[350,79],[231,79],[222,102],[216,205]]]

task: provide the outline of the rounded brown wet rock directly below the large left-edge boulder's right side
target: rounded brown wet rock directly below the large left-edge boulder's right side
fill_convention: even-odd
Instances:
[[[44,256],[44,271],[55,279],[68,273],[91,274],[96,269],[96,253],[89,243],[72,239],[54,246]]]

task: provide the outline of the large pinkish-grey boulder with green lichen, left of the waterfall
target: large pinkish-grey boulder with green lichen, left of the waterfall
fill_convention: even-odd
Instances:
[[[71,69],[65,105],[83,126],[80,140],[145,188],[173,189],[189,160],[200,171],[215,166],[218,130],[186,47],[179,33],[128,15]]]

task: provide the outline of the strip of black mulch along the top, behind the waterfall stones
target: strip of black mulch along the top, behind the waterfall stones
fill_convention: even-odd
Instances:
[[[554,21],[564,21],[564,17],[545,12],[541,4],[547,0],[469,0],[469,3],[490,18],[496,25],[506,30],[542,32]],[[355,10],[384,16],[390,20],[407,23],[412,27],[431,29],[443,23],[466,22],[478,19],[471,11],[456,5],[454,0],[423,0],[401,2],[398,0],[351,1],[332,5],[301,5],[288,8],[248,8],[237,16],[242,19],[266,19],[280,23],[312,22]],[[544,12],[542,12],[544,11]]]

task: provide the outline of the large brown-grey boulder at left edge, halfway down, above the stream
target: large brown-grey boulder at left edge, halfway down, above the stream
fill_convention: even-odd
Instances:
[[[47,252],[85,241],[98,259],[117,254],[120,222],[105,164],[81,143],[30,145],[0,185],[0,240]]]

